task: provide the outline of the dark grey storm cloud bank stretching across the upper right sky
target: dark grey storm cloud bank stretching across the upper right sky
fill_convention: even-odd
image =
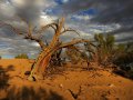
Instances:
[[[93,8],[98,13],[89,22],[120,24],[119,29],[111,32],[113,34],[133,32],[133,0],[71,0],[61,8],[63,14],[72,14],[80,10]],[[133,36],[131,34],[131,37]],[[132,40],[132,38],[125,40]]]

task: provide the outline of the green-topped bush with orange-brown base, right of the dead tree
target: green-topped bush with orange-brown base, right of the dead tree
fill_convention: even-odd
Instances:
[[[108,67],[115,56],[115,38],[111,34],[95,34],[93,44],[84,43],[90,61],[98,67]]]

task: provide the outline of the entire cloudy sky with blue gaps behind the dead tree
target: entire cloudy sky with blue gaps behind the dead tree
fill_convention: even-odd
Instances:
[[[132,11],[133,0],[0,0],[0,23],[25,30],[25,22],[39,28],[65,17],[65,26],[76,29],[82,38],[92,39],[94,33],[112,33],[116,42],[127,42],[133,40]],[[47,32],[43,38],[50,39],[52,33]],[[62,39],[75,37],[68,33]],[[0,56],[12,58],[18,53],[28,53],[35,57],[40,51],[39,44],[22,38],[10,28],[1,27]]]

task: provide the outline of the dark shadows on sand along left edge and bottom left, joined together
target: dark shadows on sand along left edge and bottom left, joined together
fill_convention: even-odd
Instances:
[[[0,100],[63,100],[62,96],[52,90],[48,92],[42,88],[35,90],[33,87],[17,88],[16,86],[10,86],[8,83],[10,79],[9,71],[13,71],[13,66],[8,66],[7,68],[0,66],[0,91],[6,91],[6,96],[0,97]]]

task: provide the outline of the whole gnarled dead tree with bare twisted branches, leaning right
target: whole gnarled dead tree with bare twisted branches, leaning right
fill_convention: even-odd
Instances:
[[[35,32],[35,34],[38,34],[38,36],[33,36],[33,28],[32,28],[32,24],[30,24],[30,23],[28,24],[28,30],[24,32],[20,31],[19,29],[14,28],[11,24],[2,23],[1,26],[7,26],[7,27],[11,28],[13,30],[13,32],[24,36],[24,39],[37,41],[40,44],[42,51],[35,59],[34,63],[32,64],[31,73],[28,78],[29,80],[33,80],[33,79],[39,80],[39,79],[43,78],[43,76],[45,73],[45,69],[50,64],[52,56],[58,50],[60,50],[62,48],[68,48],[70,46],[76,44],[76,43],[90,42],[89,40],[84,40],[84,39],[73,39],[70,42],[63,43],[60,40],[61,34],[66,33],[69,31],[73,31],[73,32],[78,33],[73,29],[64,28],[64,18],[62,18],[59,22],[53,22],[53,23],[47,24],[44,27],[41,27],[41,29]],[[54,30],[54,36],[53,36],[52,40],[50,41],[50,43],[45,44],[40,37],[41,37],[41,33],[44,32],[48,28],[52,28]]]

